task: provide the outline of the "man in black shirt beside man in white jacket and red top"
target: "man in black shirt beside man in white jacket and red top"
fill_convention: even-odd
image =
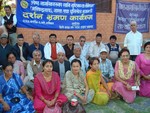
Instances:
[[[73,55],[73,49],[74,49],[74,37],[72,35],[68,35],[67,38],[67,44],[65,44],[63,46],[65,53],[66,53],[66,57],[67,59],[69,59],[72,55]]]

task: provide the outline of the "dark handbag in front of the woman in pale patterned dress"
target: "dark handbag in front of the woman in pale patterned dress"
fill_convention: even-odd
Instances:
[[[81,103],[72,106],[70,102],[67,102],[63,105],[62,113],[86,113],[86,111]]]

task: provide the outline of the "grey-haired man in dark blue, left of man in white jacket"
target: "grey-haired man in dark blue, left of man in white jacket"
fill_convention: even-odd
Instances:
[[[34,50],[38,49],[42,52],[42,59],[44,60],[44,46],[42,44],[40,44],[40,34],[35,32],[33,34],[33,43],[29,46],[29,56],[28,56],[28,60],[32,60],[32,53]]]

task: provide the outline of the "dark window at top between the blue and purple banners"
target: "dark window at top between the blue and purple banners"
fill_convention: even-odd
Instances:
[[[96,12],[111,13],[112,0],[76,0],[76,2],[88,2],[96,4]]]

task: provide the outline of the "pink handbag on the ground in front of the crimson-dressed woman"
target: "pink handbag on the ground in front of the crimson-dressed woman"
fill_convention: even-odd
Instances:
[[[43,113],[62,113],[61,107],[55,104],[54,107],[45,106]]]

